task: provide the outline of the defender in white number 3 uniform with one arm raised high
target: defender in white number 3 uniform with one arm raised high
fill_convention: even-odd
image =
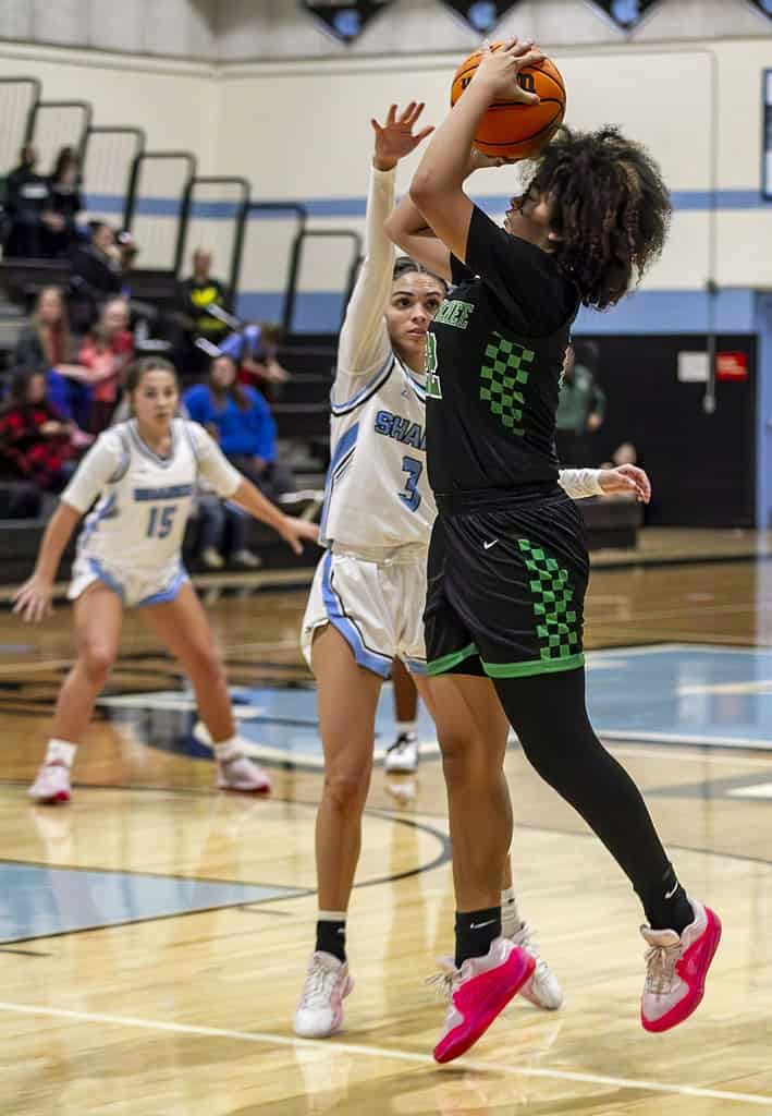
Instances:
[[[340,334],[331,396],[331,462],[321,521],[327,554],[303,619],[303,653],[317,680],[325,783],[316,829],[317,939],[295,1029],[313,1038],[340,1029],[342,1000],[353,988],[347,908],[373,769],[378,696],[396,658],[407,665],[433,712],[423,677],[426,558],[436,514],[424,469],[425,341],[446,286],[409,259],[395,267],[384,230],[394,208],[397,163],[431,132],[413,135],[422,109],[412,103],[397,116],[392,106],[385,126],[371,122],[366,258]],[[470,172],[489,165],[475,153]],[[575,497],[636,489],[618,470],[572,470],[561,483]],[[503,764],[509,731],[503,711],[481,725],[465,706],[453,712],[459,732],[479,741],[481,763],[492,740]],[[502,780],[505,786],[503,770]],[[562,992],[520,918],[509,862],[502,911],[505,933],[537,956],[524,994],[539,1007],[558,1008]]]

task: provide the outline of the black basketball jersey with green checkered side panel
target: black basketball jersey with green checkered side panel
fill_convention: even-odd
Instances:
[[[426,452],[437,493],[558,479],[554,415],[579,296],[552,257],[476,206],[466,266],[427,337]]]

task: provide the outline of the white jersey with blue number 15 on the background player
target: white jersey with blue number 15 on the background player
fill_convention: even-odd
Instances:
[[[95,558],[106,569],[139,579],[178,564],[200,472],[222,494],[232,493],[241,480],[196,423],[173,421],[167,458],[143,442],[135,420],[106,431],[61,494],[85,510],[102,491],[85,520],[78,558]]]

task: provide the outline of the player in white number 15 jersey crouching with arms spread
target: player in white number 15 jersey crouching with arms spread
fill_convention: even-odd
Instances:
[[[41,620],[61,555],[99,497],[78,540],[68,597],[74,600],[78,657],[56,704],[46,757],[29,793],[65,802],[70,768],[118,651],[125,608],[178,660],[193,684],[199,715],[214,742],[221,790],[270,790],[270,779],[243,756],[228,683],[206,614],[182,565],[185,523],[199,478],[272,527],[296,554],[316,539],[311,523],[282,514],[222,455],[203,426],[175,419],[174,367],[147,357],[128,374],[134,417],[99,435],[61,493],[40,543],[35,573],[16,594],[15,612]]]

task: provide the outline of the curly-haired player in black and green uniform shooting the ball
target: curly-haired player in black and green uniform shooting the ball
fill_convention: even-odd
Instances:
[[[457,908],[438,1061],[476,1041],[532,964],[501,936],[499,887],[512,837],[501,759],[491,748],[481,769],[452,716],[459,706],[484,725],[503,705],[537,771],[633,883],[648,920],[647,1030],[674,1027],[696,1009],[721,934],[717,916],[678,883],[637,787],[588,720],[588,559],[577,509],[556,483],[554,415],[571,321],[580,305],[614,306],[657,258],[667,190],[647,153],[612,128],[551,143],[503,229],[463,190],[489,106],[533,103],[518,75],[542,57],[517,39],[486,54],[425,152],[412,202],[390,223],[403,248],[457,283],[427,346],[427,462],[438,519],[426,645]]]

